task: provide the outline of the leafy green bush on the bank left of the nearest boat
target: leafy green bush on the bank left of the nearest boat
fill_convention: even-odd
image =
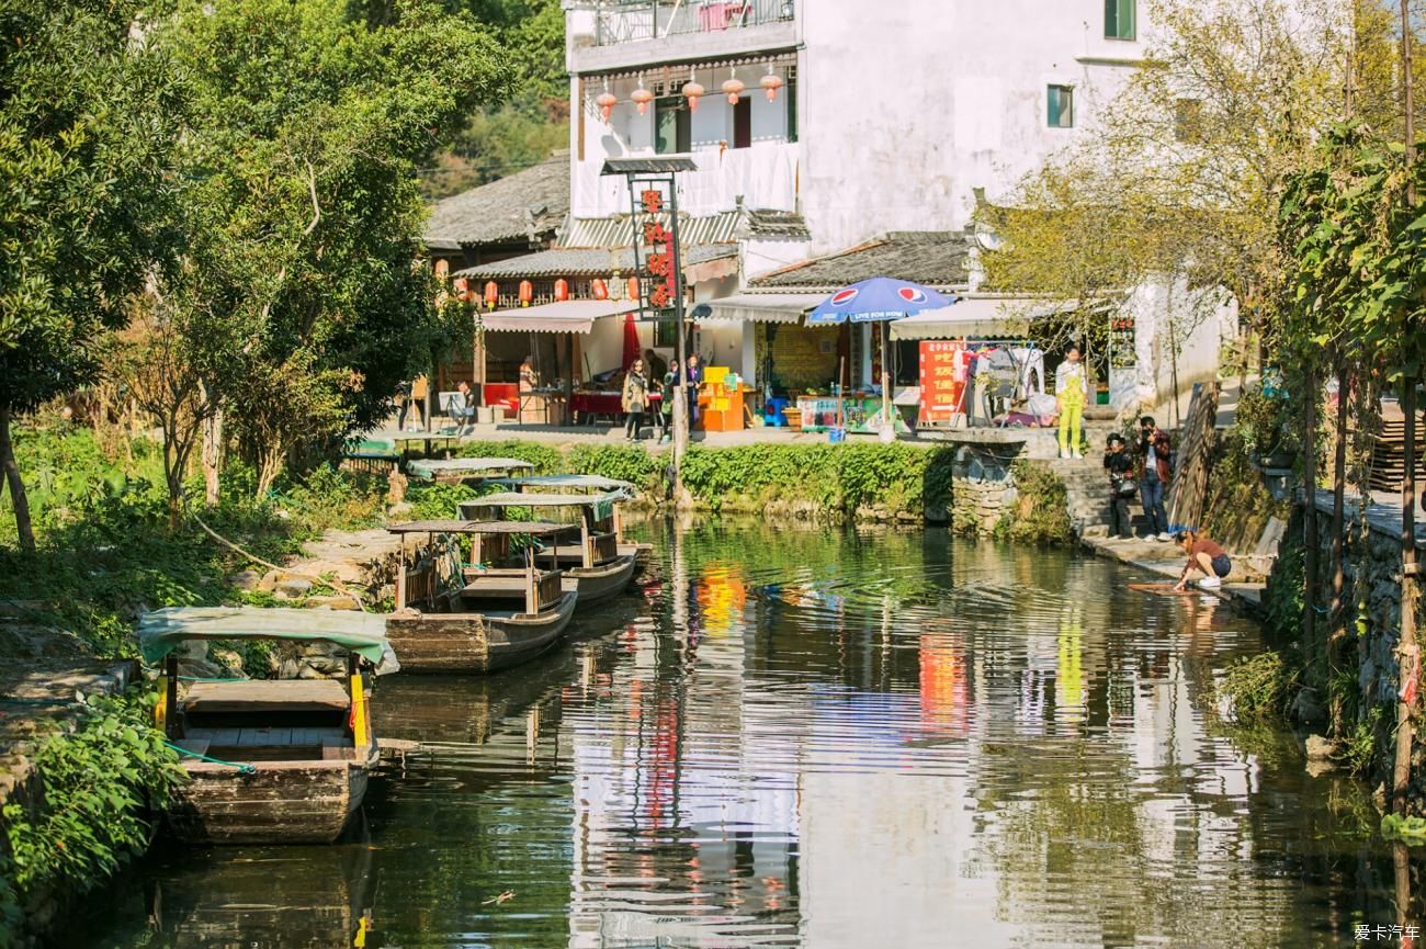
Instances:
[[[90,699],[76,731],[36,753],[43,806],[4,806],[21,892],[56,885],[84,892],[144,848],[145,812],[163,808],[184,779],[178,755],[150,725],[153,699]]]

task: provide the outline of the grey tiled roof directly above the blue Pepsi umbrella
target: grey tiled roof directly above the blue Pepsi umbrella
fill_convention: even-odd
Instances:
[[[970,278],[968,251],[961,231],[893,231],[860,247],[763,274],[752,280],[749,288],[831,291],[870,277],[955,287]]]

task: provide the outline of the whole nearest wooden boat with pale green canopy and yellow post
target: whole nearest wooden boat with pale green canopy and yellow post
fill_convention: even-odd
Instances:
[[[194,843],[329,843],[361,806],[381,751],[362,674],[399,668],[385,619],[315,609],[170,608],[145,614],[140,648],[164,662],[157,722],[188,782],[167,822]],[[335,679],[194,682],[174,649],[190,639],[324,641],[349,651]]]

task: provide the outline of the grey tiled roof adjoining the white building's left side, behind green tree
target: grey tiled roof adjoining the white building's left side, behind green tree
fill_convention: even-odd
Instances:
[[[569,214],[569,153],[436,201],[426,223],[428,247],[456,250],[518,238],[546,240]]]

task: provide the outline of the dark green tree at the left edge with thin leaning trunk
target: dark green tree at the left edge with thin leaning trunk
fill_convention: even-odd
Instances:
[[[167,57],[128,0],[0,0],[0,467],[34,549],[10,430],[93,378],[106,328],[167,258]]]

